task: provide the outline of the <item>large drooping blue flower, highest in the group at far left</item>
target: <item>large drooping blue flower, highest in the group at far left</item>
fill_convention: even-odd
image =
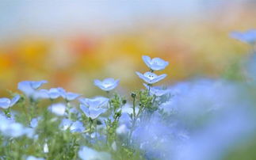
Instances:
[[[25,93],[26,96],[33,97],[33,95],[37,93],[36,90],[44,83],[47,83],[47,81],[23,81],[18,83],[17,89]]]

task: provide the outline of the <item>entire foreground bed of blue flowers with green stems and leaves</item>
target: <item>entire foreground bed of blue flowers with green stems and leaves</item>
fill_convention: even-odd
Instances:
[[[256,81],[155,86],[166,78],[155,71],[169,63],[142,59],[149,71],[136,74],[145,89],[130,97],[114,91],[114,78],[94,80],[105,97],[44,89],[44,80],[19,82],[21,93],[0,98],[0,159],[232,159],[241,142],[252,159],[254,148],[245,144],[255,139]],[[254,75],[255,67],[249,69]]]

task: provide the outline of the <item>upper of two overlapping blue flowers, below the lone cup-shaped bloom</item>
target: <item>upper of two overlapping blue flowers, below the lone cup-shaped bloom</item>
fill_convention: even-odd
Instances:
[[[94,98],[79,98],[79,101],[86,105],[87,107],[92,107],[95,109],[101,108],[102,106],[106,105],[109,101],[109,98],[106,97],[94,97]]]

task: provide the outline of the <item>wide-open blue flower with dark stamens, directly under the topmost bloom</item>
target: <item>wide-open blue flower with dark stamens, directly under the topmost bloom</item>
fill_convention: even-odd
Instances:
[[[151,73],[149,71],[144,74],[141,74],[136,71],[136,74],[139,76],[139,78],[142,78],[148,84],[153,84],[155,82],[159,82],[163,78],[166,78],[166,76],[167,76],[167,74],[157,75],[157,74]]]

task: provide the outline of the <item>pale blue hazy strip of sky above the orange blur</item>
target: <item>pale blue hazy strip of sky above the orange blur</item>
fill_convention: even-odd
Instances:
[[[0,2],[0,35],[18,32],[56,32],[84,27],[97,30],[135,24],[157,17],[191,20],[209,10],[246,0],[80,1],[12,0]],[[227,10],[228,9],[227,7]],[[163,18],[163,19],[164,19]],[[102,26],[103,25],[103,26]]]

